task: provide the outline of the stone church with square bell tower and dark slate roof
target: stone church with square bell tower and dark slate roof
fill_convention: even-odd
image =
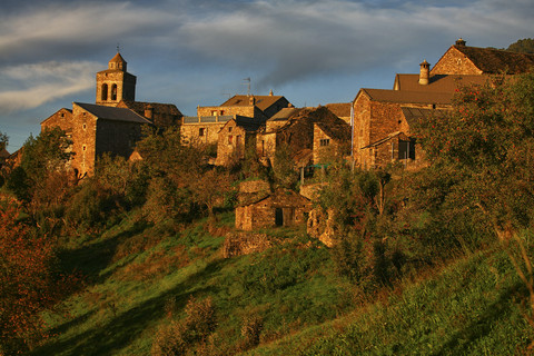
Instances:
[[[78,178],[91,175],[102,154],[128,158],[141,137],[142,126],[179,125],[182,115],[175,105],[136,101],[136,76],[117,55],[108,69],[97,73],[96,103],[73,102],[41,122],[41,131],[59,127],[72,140],[70,168]]]

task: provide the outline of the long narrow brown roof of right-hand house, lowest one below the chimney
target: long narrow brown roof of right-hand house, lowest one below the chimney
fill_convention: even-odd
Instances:
[[[428,92],[387,89],[362,89],[374,101],[397,103],[441,103],[448,105],[453,92]],[[359,93],[358,93],[359,95]]]

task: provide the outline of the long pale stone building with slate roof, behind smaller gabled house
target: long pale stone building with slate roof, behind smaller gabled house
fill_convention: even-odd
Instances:
[[[260,125],[290,106],[285,97],[273,91],[268,96],[234,96],[218,107],[198,107],[197,116],[184,118],[180,132],[185,144],[212,145],[229,120],[250,118]]]

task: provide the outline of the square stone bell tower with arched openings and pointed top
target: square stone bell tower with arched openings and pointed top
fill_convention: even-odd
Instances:
[[[97,73],[97,105],[115,107],[120,100],[136,100],[136,76],[126,71],[127,62],[117,50],[108,69]]]

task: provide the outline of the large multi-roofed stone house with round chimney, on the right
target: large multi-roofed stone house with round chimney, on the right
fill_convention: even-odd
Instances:
[[[534,55],[467,47],[456,41],[432,68],[424,60],[417,75],[396,75],[393,90],[360,89],[353,101],[353,157],[362,168],[403,161],[417,168],[424,152],[411,134],[415,120],[452,108],[455,89],[484,85],[492,75],[526,72]]]

